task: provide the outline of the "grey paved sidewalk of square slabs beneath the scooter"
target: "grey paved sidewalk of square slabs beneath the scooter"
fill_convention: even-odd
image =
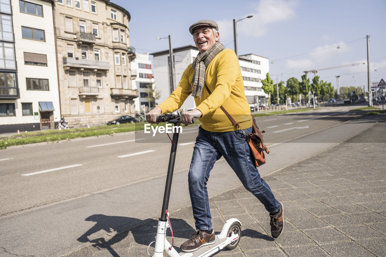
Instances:
[[[264,177],[284,205],[284,232],[276,240],[270,236],[268,213],[243,187],[211,198],[217,234],[231,217],[243,225],[237,248],[216,256],[386,256],[385,128],[383,115],[361,134]],[[179,245],[195,231],[191,207],[170,216],[180,251]],[[149,219],[66,256],[147,256],[156,225],[156,218]]]

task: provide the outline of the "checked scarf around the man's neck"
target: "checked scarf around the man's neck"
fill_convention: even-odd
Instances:
[[[194,69],[194,74],[190,82],[189,90],[192,92],[194,98],[198,97],[201,99],[201,93],[205,84],[205,70],[213,58],[224,49],[223,44],[216,42],[207,51],[199,53],[193,61],[192,68]]]

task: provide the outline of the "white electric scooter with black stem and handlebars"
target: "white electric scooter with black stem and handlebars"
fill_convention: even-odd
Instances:
[[[181,120],[179,120],[180,115],[178,115],[177,112],[173,112],[171,115],[161,115],[157,117],[157,121],[159,122],[169,122],[173,123],[174,126],[179,126],[181,124]],[[178,144],[178,135],[179,131],[178,129],[175,130],[173,134],[173,141],[170,151],[170,157],[169,157],[169,167],[168,167],[168,174],[166,176],[166,185],[165,185],[165,192],[164,192],[164,199],[163,199],[163,205],[162,205],[162,212],[161,212],[161,218],[158,220],[158,226],[157,226],[157,235],[156,235],[156,242],[154,247],[154,253],[153,255],[149,254],[149,247],[153,243],[151,242],[149,247],[147,247],[147,254],[152,257],[163,257],[164,252],[170,257],[206,257],[210,256],[212,254],[215,254],[219,250],[225,249],[232,250],[234,249],[240,242],[240,233],[241,233],[241,222],[237,220],[236,218],[231,218],[227,220],[222,227],[221,233],[216,236],[216,242],[212,245],[205,245],[203,247],[200,247],[199,249],[189,252],[189,253],[178,253],[173,246],[166,240],[166,229],[170,228],[172,237],[173,237],[173,230],[171,229],[171,224],[169,220],[169,213],[168,213],[168,205],[169,205],[169,198],[170,198],[170,189],[171,189],[171,183],[173,179],[173,170],[174,170],[174,161],[176,159],[176,150],[177,150],[177,144]]]

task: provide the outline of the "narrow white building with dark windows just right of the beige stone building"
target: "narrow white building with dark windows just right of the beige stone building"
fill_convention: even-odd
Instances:
[[[150,102],[147,90],[150,84],[155,86],[152,74],[151,60],[149,60],[149,53],[136,54],[134,61],[131,61],[132,73],[137,72],[137,77],[132,80],[133,90],[138,90],[138,96],[134,99],[135,112],[149,112],[156,106],[156,102]]]

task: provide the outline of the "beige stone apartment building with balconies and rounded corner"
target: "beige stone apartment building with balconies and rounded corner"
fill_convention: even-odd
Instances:
[[[56,0],[61,113],[70,127],[134,116],[130,14],[108,0]]]

